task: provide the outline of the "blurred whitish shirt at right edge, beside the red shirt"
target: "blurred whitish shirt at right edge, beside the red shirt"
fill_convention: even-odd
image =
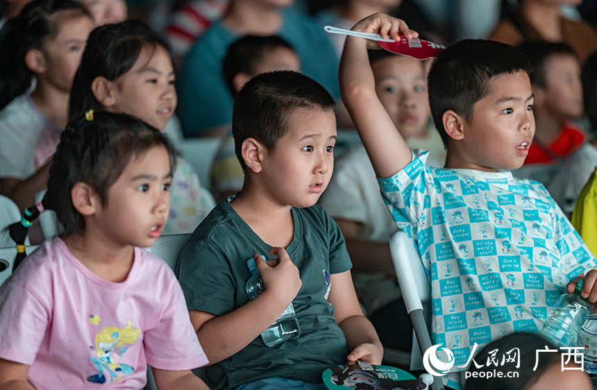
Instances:
[[[576,199],[597,166],[597,149],[590,143],[580,146],[557,170],[547,186],[549,194],[566,214],[572,214]]]

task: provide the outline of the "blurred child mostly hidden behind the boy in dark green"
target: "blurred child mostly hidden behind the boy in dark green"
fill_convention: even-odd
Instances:
[[[245,35],[230,44],[222,61],[224,80],[233,98],[252,77],[268,71],[301,71],[296,52],[276,35]],[[242,188],[244,171],[234,151],[234,137],[224,141],[212,165],[212,193],[217,201],[236,194]]]

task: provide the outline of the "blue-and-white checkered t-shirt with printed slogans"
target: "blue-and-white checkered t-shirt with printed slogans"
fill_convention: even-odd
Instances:
[[[567,282],[597,261],[540,183],[424,160],[379,183],[427,270],[433,344],[452,350],[457,371],[474,343],[537,332]]]

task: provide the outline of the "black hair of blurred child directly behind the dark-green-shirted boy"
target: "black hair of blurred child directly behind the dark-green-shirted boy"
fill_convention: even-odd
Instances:
[[[224,81],[230,94],[237,94],[233,83],[234,76],[239,73],[255,74],[255,68],[264,56],[278,48],[294,52],[294,47],[278,35],[244,35],[230,44],[226,57],[222,60]]]

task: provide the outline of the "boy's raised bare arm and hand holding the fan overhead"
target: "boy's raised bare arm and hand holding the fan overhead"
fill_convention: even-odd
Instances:
[[[399,40],[398,32],[417,37],[400,19],[375,14],[358,22],[353,31],[379,33],[382,37]],[[411,161],[411,151],[396,130],[381,104],[376,91],[367,48],[380,49],[377,42],[360,37],[347,37],[340,60],[340,92],[373,168],[379,178],[388,178]]]

